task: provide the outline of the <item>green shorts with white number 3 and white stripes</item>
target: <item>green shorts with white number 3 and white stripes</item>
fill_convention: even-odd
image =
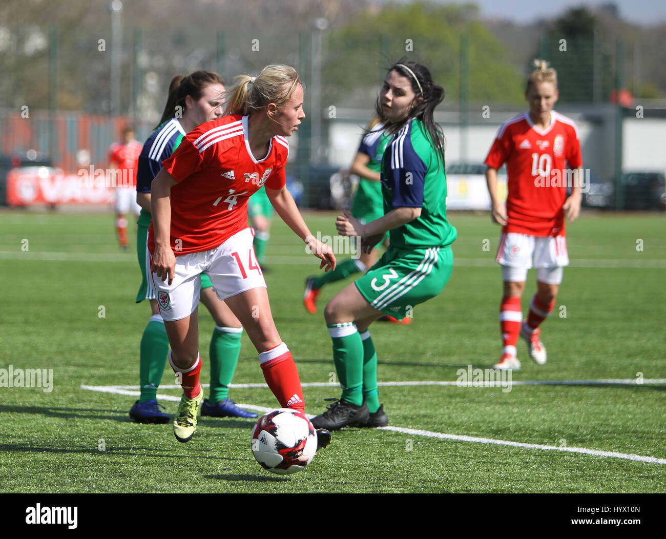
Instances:
[[[454,267],[451,246],[396,249],[384,256],[356,281],[361,295],[377,310],[402,320],[412,317],[415,305],[444,290]]]

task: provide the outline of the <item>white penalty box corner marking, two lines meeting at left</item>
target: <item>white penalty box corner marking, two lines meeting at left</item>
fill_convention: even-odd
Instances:
[[[519,380],[511,382],[516,385],[609,385],[609,384],[626,384],[626,385],[641,385],[633,378],[618,379],[618,380]],[[643,384],[665,384],[666,379],[654,378],[645,379]],[[208,387],[208,384],[201,384],[202,387]],[[339,387],[339,384],[330,382],[310,382],[301,384],[303,387]],[[379,382],[380,386],[473,386],[472,382],[460,384],[458,382]],[[499,384],[497,384],[499,385]],[[137,386],[88,386],[81,384],[81,389],[90,391],[99,391],[103,393],[113,393],[127,396],[139,396],[141,392],[135,388]],[[134,389],[131,389],[134,388]],[[180,386],[161,386],[163,389],[176,389]],[[231,384],[230,388],[268,388],[266,384]],[[170,402],[180,402],[179,396],[174,395],[158,395],[160,400],[167,400]],[[254,404],[238,404],[242,408],[255,410],[256,412],[270,412],[274,408],[266,408],[266,406],[255,406]],[[308,418],[313,418],[314,415],[306,414]],[[619,453],[615,451],[599,451],[596,449],[587,449],[585,447],[561,447],[561,446],[548,446],[543,444],[528,444],[525,442],[512,442],[511,440],[496,440],[495,438],[481,438],[478,436],[465,436],[462,434],[446,434],[444,432],[432,432],[430,430],[420,430],[416,428],[404,428],[398,426],[383,426],[378,427],[379,430],[390,430],[392,432],[400,432],[402,434],[410,434],[411,436],[424,436],[426,438],[438,438],[440,440],[456,440],[459,442],[471,442],[477,444],[493,444],[499,446],[518,447],[524,449],[539,449],[549,451],[564,451],[569,453],[579,453],[593,456],[603,456],[611,458],[622,458],[624,460],[633,460],[635,462],[649,462],[651,464],[666,464],[666,458],[657,458],[653,456],[643,456],[637,454]]]

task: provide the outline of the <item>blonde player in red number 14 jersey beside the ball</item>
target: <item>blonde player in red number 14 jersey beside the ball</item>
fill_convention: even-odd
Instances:
[[[285,137],[305,117],[298,73],[285,65],[269,65],[258,77],[241,75],[236,80],[226,116],[188,133],[152,183],[151,267],[172,349],[170,364],[182,380],[184,394],[174,420],[174,434],[181,442],[196,430],[203,395],[196,311],[201,272],[247,331],[280,406],[304,410],[298,370],[273,322],[266,282],[252,249],[250,195],[265,185],[278,215],[322,261],[320,269],[336,265],[332,249],[314,239],[284,187],[289,153]],[[320,434],[324,445],[330,434]]]

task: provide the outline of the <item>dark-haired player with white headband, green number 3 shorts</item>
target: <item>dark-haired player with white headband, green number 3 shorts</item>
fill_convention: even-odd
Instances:
[[[384,216],[362,225],[345,213],[336,227],[340,235],[360,237],[366,252],[386,231],[390,245],[376,265],[326,305],[342,396],[312,419],[316,428],[388,425],[368,327],[385,314],[404,318],[414,305],[442,292],[451,276],[457,233],[446,219],[444,136],[433,117],[443,99],[444,89],[422,64],[402,60],[384,79],[377,107],[392,135],[382,158]]]

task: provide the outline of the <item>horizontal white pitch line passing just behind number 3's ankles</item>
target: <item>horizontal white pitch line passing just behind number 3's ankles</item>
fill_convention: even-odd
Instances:
[[[459,386],[459,387],[505,387],[509,385],[513,386],[605,386],[611,384],[621,384],[621,385],[633,385],[640,386],[642,384],[666,384],[666,378],[608,378],[606,380],[505,380],[504,382],[491,381],[491,382],[474,382],[470,380],[468,382],[457,382],[452,380],[446,380],[444,382],[378,382],[378,386],[382,387],[399,387],[399,386]],[[340,384],[335,382],[304,382],[300,384],[302,387],[339,387]],[[209,384],[201,384],[202,387],[207,388]],[[90,386],[95,387],[95,386]],[[118,388],[118,389],[136,389],[137,386],[99,386],[99,387],[109,387],[109,388]],[[268,388],[266,384],[230,384],[230,388],[237,389],[252,389],[252,388]],[[179,385],[161,385],[161,389],[180,389]]]

